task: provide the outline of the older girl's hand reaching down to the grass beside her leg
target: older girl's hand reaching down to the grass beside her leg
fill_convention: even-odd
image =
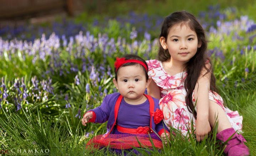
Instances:
[[[197,118],[196,120],[196,139],[197,141],[202,141],[208,136],[210,132],[210,123],[205,118]]]

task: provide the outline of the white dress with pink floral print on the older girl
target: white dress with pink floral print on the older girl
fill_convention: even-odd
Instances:
[[[163,69],[162,63],[159,60],[146,61],[149,67],[148,75],[159,86],[161,91],[161,99],[159,102],[160,109],[164,113],[164,123],[167,127],[173,127],[180,130],[181,133],[186,136],[196,128],[196,119],[193,114],[188,111],[185,96],[186,90],[183,86],[183,80],[186,79],[187,73],[181,72],[176,75],[169,75]],[[182,80],[183,75],[183,80]],[[209,99],[216,102],[225,111],[232,127],[235,130],[242,130],[242,116],[238,111],[231,111],[229,108],[224,107],[223,99],[218,93],[209,91]],[[192,94],[192,100],[195,104],[194,94]],[[195,108],[196,110],[196,108]]]

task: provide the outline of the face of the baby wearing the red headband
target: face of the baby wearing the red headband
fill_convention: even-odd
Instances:
[[[116,87],[119,93],[129,101],[142,98],[148,81],[142,66],[123,66],[118,69]]]

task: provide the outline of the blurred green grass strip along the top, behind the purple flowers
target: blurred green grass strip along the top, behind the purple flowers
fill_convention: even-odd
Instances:
[[[83,8],[85,11],[78,18],[81,21],[91,21],[93,18],[103,19],[105,16],[116,17],[126,15],[130,11],[138,14],[147,13],[149,15],[160,15],[164,17],[174,11],[187,10],[194,15],[198,15],[200,11],[207,11],[209,6],[215,5],[219,5],[220,9],[234,7],[242,15],[250,13],[250,17],[255,20],[254,10],[256,2],[254,0],[181,0],[179,2],[173,0],[142,0],[140,2],[137,0],[95,0],[84,3]]]

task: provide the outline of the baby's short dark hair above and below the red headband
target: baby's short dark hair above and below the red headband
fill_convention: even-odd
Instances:
[[[142,58],[140,58],[139,56],[134,55],[134,54],[125,54],[125,55],[123,55],[122,58],[125,58],[126,60],[139,60],[139,61],[142,61],[142,62],[146,65],[146,68],[147,68],[147,69],[145,69],[144,66],[142,66],[141,64],[134,63],[134,62],[125,63],[125,64],[123,64],[122,66],[133,66],[133,65],[137,65],[137,66],[142,67],[142,68],[143,68],[143,71],[144,71],[144,73],[145,73],[145,76],[146,76],[146,81],[148,81],[148,79],[149,79],[148,72],[147,72],[147,70],[148,70],[148,64],[146,63],[146,61],[145,61],[144,59],[142,59]],[[122,66],[120,66],[120,68],[121,68]],[[119,70],[119,68],[118,68],[118,70]],[[114,71],[115,71],[115,79],[116,79],[116,80],[117,80],[117,73],[118,73],[118,70],[116,71],[116,68],[114,68]]]

